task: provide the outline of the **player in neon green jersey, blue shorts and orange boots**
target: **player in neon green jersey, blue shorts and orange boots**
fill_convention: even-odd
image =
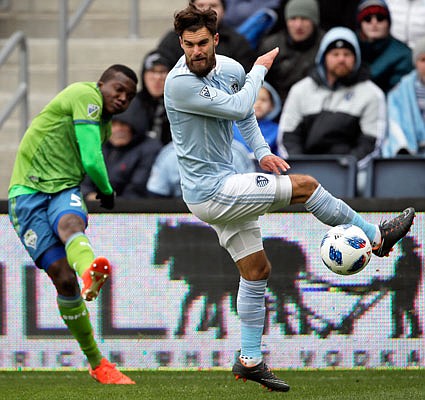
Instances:
[[[97,297],[111,266],[105,257],[95,257],[85,235],[87,208],[80,183],[89,175],[100,205],[114,207],[102,143],[111,134],[112,115],[128,108],[136,88],[134,71],[115,64],[97,83],[77,82],[61,91],[26,131],[9,186],[13,227],[55,285],[60,315],[86,355],[90,375],[103,384],[135,382],[102,356],[83,301]]]

